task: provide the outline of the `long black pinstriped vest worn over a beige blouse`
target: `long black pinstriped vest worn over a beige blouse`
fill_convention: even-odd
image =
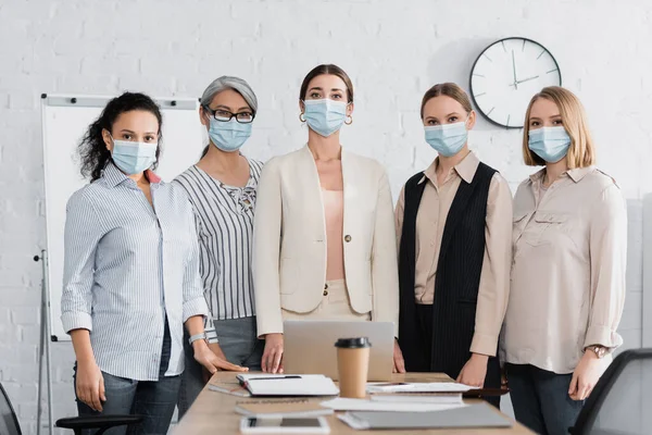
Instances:
[[[414,300],[416,214],[427,182],[419,184],[424,173],[418,173],[405,184],[405,209],[399,251],[399,344],[408,371],[443,372],[456,378],[471,358],[469,347],[475,331],[478,286],[485,256],[487,198],[494,173],[496,170],[480,163],[471,184],[462,179],[451,204],[437,263],[432,352],[429,358],[424,355],[424,338]],[[488,365],[487,378],[496,381],[498,375],[500,386],[500,368],[497,359],[492,359]],[[493,373],[496,370],[498,372]],[[490,385],[486,382],[486,386]]]

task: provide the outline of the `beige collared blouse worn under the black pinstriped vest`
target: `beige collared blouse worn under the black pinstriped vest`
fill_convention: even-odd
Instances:
[[[437,183],[439,159],[425,171],[419,183],[427,183],[416,214],[416,264],[414,296],[417,303],[435,300],[435,278],[439,249],[448,213],[462,181],[471,183],[480,161],[469,152],[448,174],[441,186]],[[400,248],[403,229],[405,191],[401,191],[394,220]],[[505,179],[496,173],[489,185],[485,235],[487,246],[478,289],[475,334],[471,351],[494,356],[507,304],[510,266],[512,264],[512,192]]]

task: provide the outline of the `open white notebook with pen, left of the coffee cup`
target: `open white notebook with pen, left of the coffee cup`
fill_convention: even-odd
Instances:
[[[337,396],[339,389],[322,374],[239,374],[252,396]]]

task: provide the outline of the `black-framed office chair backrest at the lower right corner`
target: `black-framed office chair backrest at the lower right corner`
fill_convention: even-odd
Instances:
[[[577,418],[573,435],[652,433],[652,348],[626,350],[606,369]]]

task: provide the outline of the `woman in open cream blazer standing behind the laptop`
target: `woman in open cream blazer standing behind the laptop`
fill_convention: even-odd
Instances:
[[[283,321],[393,322],[399,283],[387,174],[342,149],[353,87],[336,65],[319,65],[301,85],[308,146],[265,164],[254,217],[253,278],[262,369],[281,372]],[[394,347],[394,370],[403,371]]]

